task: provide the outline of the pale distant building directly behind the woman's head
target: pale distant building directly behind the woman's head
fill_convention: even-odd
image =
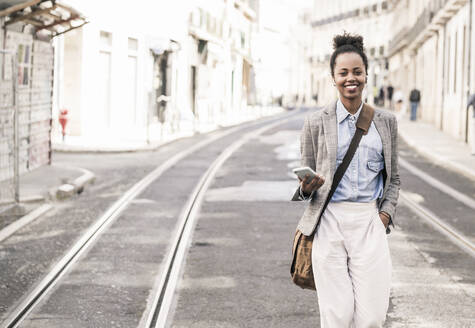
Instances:
[[[319,104],[326,104],[337,97],[332,85],[330,56],[333,37],[343,32],[360,34],[364,38],[369,60],[368,84],[365,98],[374,103],[374,96],[381,87],[392,83],[387,77],[388,24],[391,12],[388,1],[337,0],[314,1],[312,39],[312,93],[318,95]]]

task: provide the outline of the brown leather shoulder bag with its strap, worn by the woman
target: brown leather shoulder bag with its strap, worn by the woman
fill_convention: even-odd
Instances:
[[[360,116],[356,121],[356,132],[351,139],[350,146],[343,158],[342,163],[338,166],[335,175],[333,176],[333,183],[328,194],[323,209],[321,211],[320,217],[327,208],[330,199],[333,196],[333,193],[336,190],[336,187],[340,183],[341,178],[345,174],[346,169],[350,165],[351,159],[358,148],[361,137],[363,134],[367,134],[371,121],[373,120],[374,109],[366,104],[363,105]],[[320,218],[318,219],[320,223]],[[315,228],[315,231],[318,228]],[[312,268],[312,244],[315,231],[310,235],[304,235],[300,230],[297,229],[294,236],[294,243],[292,246],[292,264],[290,265],[290,275],[292,276],[292,281],[299,287],[303,289],[316,290],[315,279],[313,277],[313,268]]]

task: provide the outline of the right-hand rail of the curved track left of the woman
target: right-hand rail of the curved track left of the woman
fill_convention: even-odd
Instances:
[[[292,120],[300,119],[300,116],[301,115],[295,115],[292,117]],[[157,287],[153,292],[153,300],[144,312],[139,327],[164,328],[166,326],[169,311],[173,302],[173,296],[183,269],[182,266],[185,261],[187,249],[191,242],[191,236],[197,221],[198,213],[204,195],[218,170],[226,160],[246,142],[278,125],[281,125],[282,123],[284,122],[274,122],[256,131],[247,133],[245,136],[228,146],[202,175],[180,215],[178,230],[175,233],[174,242],[172,243],[172,247],[165,260],[164,272],[158,277],[156,282]]]

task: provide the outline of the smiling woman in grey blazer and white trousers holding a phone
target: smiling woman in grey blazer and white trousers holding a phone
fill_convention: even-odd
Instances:
[[[313,238],[311,263],[322,328],[382,327],[389,305],[391,258],[387,233],[399,195],[397,121],[374,110],[369,129],[330,198],[336,168],[356,130],[367,83],[363,37],[333,39],[330,72],[338,99],[305,118],[300,180],[292,200],[308,201],[297,229]],[[367,112],[367,111],[366,111]],[[313,236],[313,237],[312,237]]]

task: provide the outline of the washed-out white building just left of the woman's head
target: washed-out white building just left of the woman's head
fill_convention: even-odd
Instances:
[[[259,1],[252,50],[260,104],[314,105],[310,13],[296,6],[288,0]]]

